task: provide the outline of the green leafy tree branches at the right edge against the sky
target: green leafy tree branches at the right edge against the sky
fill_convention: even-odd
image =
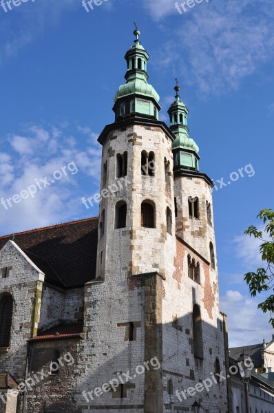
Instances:
[[[253,225],[249,226],[244,233],[253,236],[254,238],[261,240],[260,255],[262,262],[265,263],[265,268],[257,268],[255,273],[246,273],[244,280],[249,286],[249,291],[252,297],[260,294],[264,291],[273,291],[274,286],[274,211],[272,209],[262,209],[257,218],[260,218],[264,222],[264,233],[269,237],[269,240],[264,240],[262,231],[258,231]],[[258,305],[263,313],[271,312],[271,319],[269,322],[274,328],[274,294],[269,295],[265,301]]]

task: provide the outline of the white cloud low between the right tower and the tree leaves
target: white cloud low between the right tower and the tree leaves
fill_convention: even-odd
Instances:
[[[260,301],[228,290],[220,297],[220,308],[228,316],[229,347],[247,346],[271,340],[272,327],[269,314],[257,309]]]

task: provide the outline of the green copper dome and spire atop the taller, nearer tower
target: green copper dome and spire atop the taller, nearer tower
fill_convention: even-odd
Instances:
[[[140,45],[139,35],[140,32],[136,28],[134,30],[135,44],[125,54],[127,61],[125,79],[127,82],[119,86],[118,92],[114,96],[113,110],[116,114],[116,121],[136,115],[158,120],[160,96],[154,87],[147,83],[149,54]]]

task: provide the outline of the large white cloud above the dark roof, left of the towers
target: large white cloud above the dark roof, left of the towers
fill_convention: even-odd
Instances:
[[[85,211],[81,204],[85,194],[83,180],[88,178],[91,191],[92,187],[98,188],[101,175],[101,146],[96,142],[94,132],[88,129],[86,134],[85,131],[87,128],[76,130],[74,137],[67,136],[61,125],[28,125],[23,134],[7,137],[10,153],[0,153],[0,198],[6,201],[30,185],[38,187],[37,182],[43,188],[41,180],[45,177],[48,177],[50,186],[39,189],[34,198],[28,196],[19,203],[10,201],[12,207],[8,209],[1,203],[1,235],[76,219]],[[79,142],[85,146],[85,151]],[[70,162],[74,164],[69,170]],[[67,175],[62,171],[63,167],[67,167]],[[78,173],[74,173],[76,168]],[[52,183],[56,171],[61,171],[62,178]]]

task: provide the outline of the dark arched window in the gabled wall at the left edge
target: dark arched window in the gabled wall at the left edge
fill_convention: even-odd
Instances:
[[[12,296],[4,295],[0,301],[0,347],[10,346],[10,332],[12,329],[12,308]]]

